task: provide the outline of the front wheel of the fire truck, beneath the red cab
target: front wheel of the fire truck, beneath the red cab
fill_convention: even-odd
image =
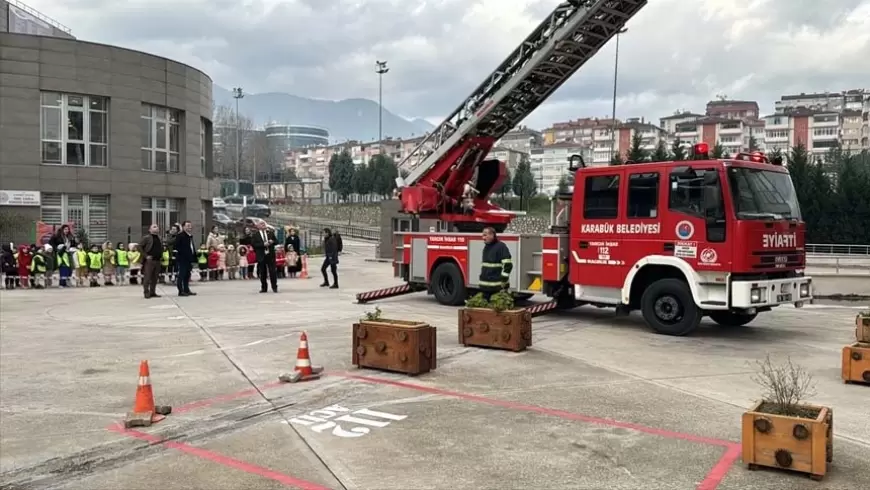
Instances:
[[[701,323],[689,285],[679,279],[660,279],[646,288],[640,300],[643,319],[657,333],[683,336]]]

